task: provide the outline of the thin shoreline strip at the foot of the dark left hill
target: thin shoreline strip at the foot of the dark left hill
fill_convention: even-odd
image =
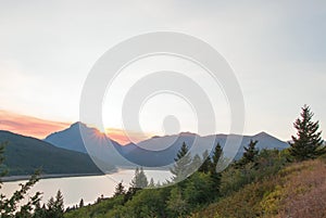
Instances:
[[[95,172],[95,174],[50,174],[50,175],[40,175],[39,179],[54,179],[54,178],[68,178],[68,177],[91,177],[91,176],[103,176],[104,174]],[[2,182],[14,182],[14,181],[25,181],[28,180],[32,175],[21,175],[21,176],[9,176],[2,177]]]

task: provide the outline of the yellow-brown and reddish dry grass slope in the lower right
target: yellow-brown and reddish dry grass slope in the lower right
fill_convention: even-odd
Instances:
[[[326,164],[292,164],[192,215],[200,217],[326,217]]]

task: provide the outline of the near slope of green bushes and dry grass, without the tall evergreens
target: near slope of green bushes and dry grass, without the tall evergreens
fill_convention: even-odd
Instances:
[[[234,164],[215,182],[199,171],[173,187],[120,192],[64,216],[325,217],[326,159],[289,164],[287,152],[263,151],[255,163]]]

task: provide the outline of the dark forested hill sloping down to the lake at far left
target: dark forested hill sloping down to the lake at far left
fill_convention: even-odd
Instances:
[[[11,176],[30,175],[38,168],[42,174],[101,174],[87,154],[0,130],[0,142],[5,141],[4,165]]]

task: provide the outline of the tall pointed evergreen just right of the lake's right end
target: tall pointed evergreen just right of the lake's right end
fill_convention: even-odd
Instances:
[[[173,174],[173,180],[174,181],[181,181],[186,179],[190,174],[190,164],[191,164],[191,156],[188,153],[188,148],[186,143],[184,142],[181,145],[181,149],[177,153],[176,158],[174,158],[176,162],[174,164],[174,167],[170,169],[170,171]]]

